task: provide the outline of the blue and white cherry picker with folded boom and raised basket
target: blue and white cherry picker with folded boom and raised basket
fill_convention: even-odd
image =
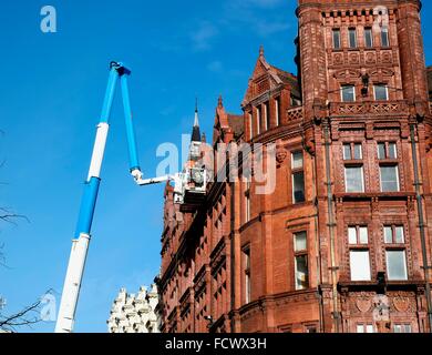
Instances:
[[[101,184],[101,168],[104,158],[106,139],[110,129],[110,114],[114,99],[117,81],[121,82],[123,97],[124,119],[126,125],[126,135],[128,144],[130,171],[134,181],[138,185],[150,185],[166,181],[174,181],[174,201],[184,203],[185,196],[203,196],[206,191],[206,171],[202,168],[184,170],[181,173],[165,175],[154,179],[143,179],[143,172],[140,168],[134,126],[132,121],[132,111],[130,103],[130,93],[127,78],[131,70],[121,62],[110,63],[110,77],[105,98],[102,106],[102,114],[96,129],[96,138],[93,146],[93,154],[90,163],[89,175],[84,183],[84,191],[81,201],[80,214],[78,219],[75,239],[72,241],[72,251],[69,258],[66,276],[64,281],[62,298],[60,303],[59,315],[55,325],[56,333],[71,333],[74,326],[76,304],[80,295],[80,288],[85,266],[85,260],[91,239],[91,227],[93,222],[94,209],[96,205],[97,193]],[[199,179],[196,178],[200,174]],[[194,176],[194,178],[192,178]],[[198,181],[198,183],[196,183]]]

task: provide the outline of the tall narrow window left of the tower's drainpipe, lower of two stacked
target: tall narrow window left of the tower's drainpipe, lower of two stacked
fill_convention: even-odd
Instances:
[[[309,287],[308,242],[306,232],[294,234],[296,290]]]

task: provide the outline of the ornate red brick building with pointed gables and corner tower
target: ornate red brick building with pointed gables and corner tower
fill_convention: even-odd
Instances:
[[[219,99],[213,144],[276,143],[277,189],[215,182],[182,212],[166,187],[163,332],[430,331],[420,11],[416,0],[300,0],[298,78],[261,49],[244,114]]]

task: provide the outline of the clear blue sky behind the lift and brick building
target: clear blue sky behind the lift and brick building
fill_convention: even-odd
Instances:
[[[44,4],[56,8],[58,33],[40,31]],[[259,44],[269,62],[296,72],[295,8],[294,0],[2,1],[0,182],[7,184],[0,184],[0,206],[30,220],[0,225],[10,266],[0,267],[4,313],[49,288],[62,290],[109,62],[121,60],[133,70],[138,152],[153,176],[157,145],[179,144],[181,134],[191,132],[196,95],[208,139],[219,93],[229,111],[240,112]],[[423,20],[431,14],[424,1]],[[423,24],[432,60],[432,28]],[[111,123],[79,332],[106,332],[119,288],[135,292],[160,270],[163,185],[140,189],[128,175],[120,95]],[[42,323],[32,331],[53,327]]]

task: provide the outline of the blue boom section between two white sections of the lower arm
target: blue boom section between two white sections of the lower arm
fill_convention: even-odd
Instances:
[[[84,193],[81,201],[80,216],[75,231],[76,239],[81,233],[90,234],[101,179],[99,178],[91,178],[89,182],[85,182]]]

